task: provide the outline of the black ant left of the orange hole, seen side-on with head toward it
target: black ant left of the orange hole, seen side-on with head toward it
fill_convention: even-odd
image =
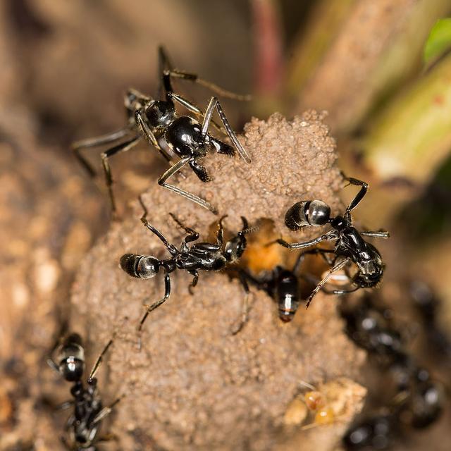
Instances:
[[[169,215],[180,228],[183,228],[187,233],[185,240],[180,245],[180,249],[177,249],[172,245],[163,234],[152,226],[147,221],[147,209],[140,197],[140,203],[144,210],[141,222],[144,227],[148,228],[156,237],[163,242],[168,252],[171,254],[169,259],[157,259],[151,255],[138,255],[138,254],[124,254],[121,257],[121,268],[128,273],[129,276],[149,279],[156,276],[160,268],[164,271],[164,296],[153,304],[147,305],[147,310],[142,316],[142,319],[137,328],[138,334],[142,333],[142,326],[146,321],[149,313],[159,307],[163,302],[166,302],[171,296],[171,276],[173,271],[182,269],[187,271],[192,276],[192,282],[188,287],[190,294],[192,295],[192,288],[197,285],[199,280],[199,270],[202,271],[221,271],[226,266],[235,263],[245,252],[247,245],[246,235],[252,233],[256,228],[249,228],[247,219],[241,216],[242,230],[240,230],[235,237],[226,242],[223,245],[223,220],[227,216],[223,216],[218,222],[218,231],[216,233],[216,244],[211,242],[197,242],[193,245],[189,245],[190,242],[197,241],[199,239],[199,233],[192,228],[186,227],[183,223],[172,213]],[[141,340],[138,339],[138,349],[141,347]]]

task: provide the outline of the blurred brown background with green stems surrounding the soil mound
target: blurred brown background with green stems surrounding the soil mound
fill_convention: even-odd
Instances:
[[[45,357],[67,325],[80,260],[109,227],[103,182],[70,143],[120,128],[128,87],[156,95],[159,44],[176,68],[252,94],[224,101],[237,131],[252,116],[327,110],[340,166],[371,185],[357,219],[392,233],[381,297],[412,324],[409,282],[428,283],[451,333],[451,46],[440,38],[425,56],[450,13],[446,0],[2,1],[0,450],[61,446],[53,408],[67,387]],[[177,87],[206,106],[203,88]],[[97,152],[89,160],[100,168]],[[111,166],[126,216],[164,164],[144,147]],[[412,335],[412,352],[449,381],[450,356],[432,358]],[[449,421],[448,408],[397,449],[449,449]]]

